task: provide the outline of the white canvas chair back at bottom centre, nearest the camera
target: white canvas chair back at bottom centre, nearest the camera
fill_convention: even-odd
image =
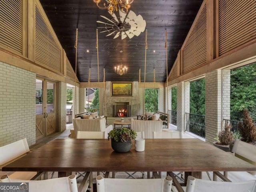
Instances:
[[[96,177],[97,192],[170,192],[172,178],[116,179]]]

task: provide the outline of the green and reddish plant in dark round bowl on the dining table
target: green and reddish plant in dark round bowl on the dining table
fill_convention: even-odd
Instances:
[[[111,146],[115,152],[128,152],[132,147],[132,140],[137,133],[126,127],[115,128],[108,133],[108,140],[111,139]]]

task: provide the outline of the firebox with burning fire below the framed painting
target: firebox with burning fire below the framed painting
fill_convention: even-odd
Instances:
[[[113,105],[113,117],[130,117],[131,106],[129,102],[115,102]]]

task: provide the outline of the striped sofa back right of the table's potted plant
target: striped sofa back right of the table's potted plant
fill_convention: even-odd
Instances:
[[[134,120],[131,119],[131,130],[144,131],[144,138],[153,138],[153,131],[162,132],[162,120]]]

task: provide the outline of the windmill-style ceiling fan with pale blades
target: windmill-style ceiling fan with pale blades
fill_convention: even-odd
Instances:
[[[121,12],[119,10],[119,17],[116,16],[116,14],[111,15],[112,18],[109,19],[105,16],[102,16],[102,18],[106,19],[106,22],[103,21],[97,21],[97,23],[104,24],[104,27],[98,27],[98,28],[105,28],[105,31],[108,32],[106,36],[114,35],[114,39],[121,36],[121,39],[123,40],[127,36],[129,38],[133,38],[134,35],[139,36],[141,32],[144,32],[146,28],[146,21],[142,18],[141,15],[136,15],[133,11],[128,12],[128,14]]]

